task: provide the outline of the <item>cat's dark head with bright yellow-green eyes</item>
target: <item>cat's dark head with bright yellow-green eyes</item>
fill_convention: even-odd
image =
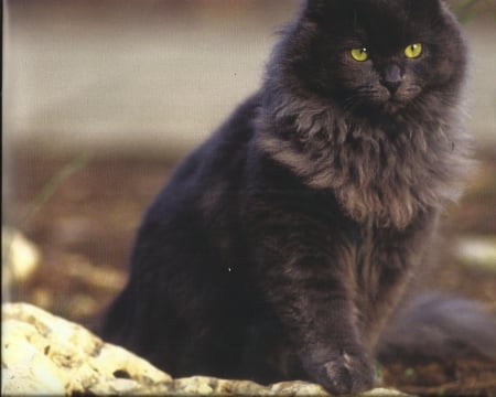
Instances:
[[[306,0],[279,55],[292,87],[381,114],[433,95],[449,104],[466,66],[441,0]]]

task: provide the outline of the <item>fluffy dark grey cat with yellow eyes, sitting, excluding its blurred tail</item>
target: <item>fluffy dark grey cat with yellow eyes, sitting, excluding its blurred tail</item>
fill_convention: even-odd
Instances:
[[[304,2],[149,208],[104,337],[173,376],[370,388],[467,169],[466,63],[441,0]]]

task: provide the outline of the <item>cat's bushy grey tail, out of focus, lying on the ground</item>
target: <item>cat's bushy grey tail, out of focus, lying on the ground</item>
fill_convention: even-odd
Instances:
[[[400,309],[382,334],[380,362],[496,361],[496,314],[479,302],[425,292]]]

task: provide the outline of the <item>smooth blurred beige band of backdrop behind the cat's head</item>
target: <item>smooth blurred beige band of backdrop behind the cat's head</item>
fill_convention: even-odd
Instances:
[[[471,126],[479,140],[494,141],[496,2],[454,3],[474,57]],[[51,151],[161,155],[196,144],[257,88],[276,32],[298,7],[295,0],[4,4],[10,139]]]

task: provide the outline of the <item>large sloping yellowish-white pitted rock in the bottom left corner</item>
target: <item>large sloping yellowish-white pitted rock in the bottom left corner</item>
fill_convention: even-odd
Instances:
[[[3,304],[2,323],[3,393],[123,394],[172,382],[125,348],[33,305]],[[118,372],[126,379],[116,378]]]

